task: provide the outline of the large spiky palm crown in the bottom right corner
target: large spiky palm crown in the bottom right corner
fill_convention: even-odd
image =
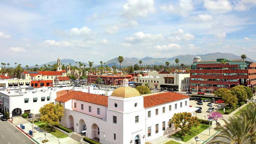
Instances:
[[[250,121],[248,122],[246,118],[242,119],[240,116],[229,117],[229,120],[224,120],[225,125],[220,126],[221,135],[216,137],[224,137],[228,139],[230,144],[244,144],[250,141]],[[254,137],[255,138],[255,137]],[[212,143],[224,143],[223,141],[213,141]]]

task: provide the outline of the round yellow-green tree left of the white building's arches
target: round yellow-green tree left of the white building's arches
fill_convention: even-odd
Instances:
[[[61,120],[62,116],[64,115],[64,108],[63,105],[57,103],[54,105],[53,103],[49,103],[41,107],[40,110],[40,120],[44,123],[49,123],[52,126],[58,126],[59,121]]]

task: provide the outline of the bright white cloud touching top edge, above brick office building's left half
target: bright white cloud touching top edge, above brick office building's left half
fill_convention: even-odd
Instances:
[[[225,13],[232,10],[228,0],[204,0],[204,8],[212,13]]]

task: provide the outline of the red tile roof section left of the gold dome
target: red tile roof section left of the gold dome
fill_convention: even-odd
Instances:
[[[95,103],[103,106],[107,106],[107,98],[108,96],[96,95],[92,93],[86,93],[81,91],[68,91],[67,94],[56,98],[56,101],[59,102],[67,102],[70,99],[76,99],[84,102]]]

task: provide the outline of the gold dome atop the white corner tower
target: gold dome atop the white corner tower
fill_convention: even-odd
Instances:
[[[135,88],[132,87],[119,87],[116,90],[113,91],[113,93],[111,94],[111,96],[115,96],[115,97],[136,97],[139,96],[140,93],[139,91],[137,91]]]

